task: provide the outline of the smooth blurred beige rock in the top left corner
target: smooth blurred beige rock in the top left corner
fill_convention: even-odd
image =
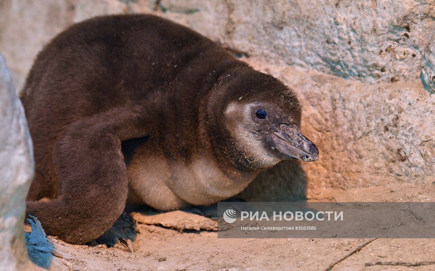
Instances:
[[[43,45],[71,24],[74,8],[74,1],[0,1],[0,51],[17,91]]]

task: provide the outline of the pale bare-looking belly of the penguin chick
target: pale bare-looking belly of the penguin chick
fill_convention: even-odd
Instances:
[[[155,156],[141,158],[134,159],[127,168],[129,186],[133,190],[129,202],[138,203],[134,198],[140,198],[158,210],[212,204],[240,193],[254,178],[232,180],[216,162],[204,157],[190,164],[170,164]]]

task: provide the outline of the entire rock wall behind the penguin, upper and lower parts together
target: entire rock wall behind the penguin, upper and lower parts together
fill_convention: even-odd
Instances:
[[[0,50],[21,86],[43,44],[74,22],[154,13],[191,27],[300,93],[302,129],[321,152],[317,162],[262,173],[244,197],[320,198],[435,181],[435,98],[420,80],[434,8],[435,0],[3,0]]]

